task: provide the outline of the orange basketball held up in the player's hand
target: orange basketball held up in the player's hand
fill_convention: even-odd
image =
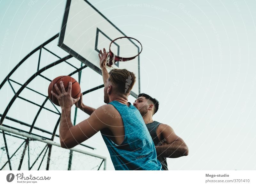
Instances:
[[[68,90],[68,83],[71,81],[72,82],[72,89],[71,89],[71,96],[73,98],[78,98],[80,97],[81,94],[81,88],[79,83],[76,81],[76,79],[70,77],[70,76],[59,76],[55,79],[52,80],[52,82],[50,83],[49,87],[48,87],[48,96],[49,99],[55,104],[60,106],[58,99],[52,95],[51,91],[53,91],[54,93],[58,94],[54,85],[57,84],[57,86],[59,87],[60,91],[61,91],[61,87],[60,87],[60,81],[63,82],[64,87],[65,87],[65,91]]]

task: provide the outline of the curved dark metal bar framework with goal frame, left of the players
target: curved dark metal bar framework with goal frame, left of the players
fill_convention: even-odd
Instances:
[[[47,144],[45,145],[45,147],[44,147],[44,149],[43,149],[43,151],[45,150],[45,148],[48,149],[46,170],[49,170],[49,166],[50,166],[52,145],[59,146],[58,144],[56,144],[56,143],[53,142],[53,139],[54,139],[54,137],[59,137],[58,135],[56,135],[56,130],[57,130],[57,127],[58,127],[58,125],[59,125],[59,123],[60,123],[60,115],[61,115],[61,113],[59,112],[59,110],[55,107],[55,105],[54,105],[52,102],[51,102],[51,103],[52,103],[52,105],[56,108],[56,111],[53,111],[53,110],[51,110],[51,109],[48,109],[48,108],[45,108],[45,107],[44,107],[46,101],[49,99],[49,97],[48,97],[47,95],[44,95],[44,94],[42,94],[42,93],[39,93],[39,92],[37,92],[37,91],[35,91],[35,90],[33,90],[33,89],[27,87],[27,85],[28,85],[34,78],[36,78],[37,76],[40,76],[40,77],[42,77],[42,78],[48,80],[49,82],[51,82],[51,81],[52,81],[51,79],[44,77],[41,73],[44,72],[44,71],[46,71],[47,69],[49,69],[49,68],[51,68],[51,67],[57,65],[57,64],[60,64],[60,63],[63,63],[63,62],[68,63],[67,60],[73,57],[72,55],[68,55],[68,56],[65,56],[65,57],[61,58],[60,56],[56,55],[56,54],[53,53],[52,51],[50,51],[50,50],[48,50],[47,48],[45,48],[45,45],[49,44],[50,42],[52,42],[53,40],[55,40],[55,39],[58,38],[58,37],[59,37],[59,33],[57,33],[56,35],[54,35],[54,36],[53,36],[52,38],[50,38],[48,41],[45,41],[42,45],[40,45],[40,46],[38,46],[37,48],[35,48],[34,50],[32,50],[27,56],[25,56],[25,57],[12,69],[12,71],[6,76],[6,78],[4,78],[3,82],[0,84],[0,90],[1,90],[2,87],[4,86],[4,84],[5,84],[6,82],[9,83],[9,85],[11,86],[12,91],[13,91],[13,93],[14,93],[14,96],[12,97],[11,101],[8,103],[7,107],[5,108],[4,113],[3,113],[3,114],[0,114],[0,116],[1,116],[1,119],[0,119],[0,130],[2,130],[2,134],[3,134],[3,138],[4,138],[4,144],[5,144],[5,150],[6,150],[6,155],[7,155],[7,159],[8,159],[8,161],[4,164],[4,166],[8,163],[10,170],[12,170],[11,158],[15,155],[15,153],[16,153],[16,152],[21,148],[21,146],[25,143],[24,149],[23,149],[23,153],[22,153],[22,155],[21,155],[21,157],[20,157],[20,164],[19,164],[19,168],[18,168],[18,170],[20,170],[21,165],[22,165],[22,162],[23,162],[23,159],[24,159],[24,155],[25,155],[25,152],[26,152],[27,148],[28,148],[28,151],[29,151],[29,141],[30,141],[30,140],[38,140],[38,141],[43,141],[43,142],[46,142],[46,141],[47,141]],[[44,50],[48,51],[49,53],[51,53],[52,55],[58,57],[59,60],[57,60],[57,61],[55,61],[55,62],[53,62],[53,63],[51,63],[51,64],[49,64],[49,65],[47,65],[47,66],[45,66],[45,67],[43,67],[43,68],[41,68],[41,69],[39,69],[42,49],[44,49]],[[28,78],[28,80],[27,80],[24,84],[20,84],[20,83],[18,83],[18,82],[16,82],[16,81],[12,80],[12,79],[10,78],[10,77],[12,76],[12,74],[20,67],[20,65],[21,65],[22,63],[24,63],[31,55],[33,55],[33,54],[36,53],[37,51],[39,51],[39,58],[38,58],[38,64],[37,64],[37,71],[36,71],[36,73],[34,73],[30,78]],[[79,83],[80,83],[81,71],[82,71],[84,68],[86,68],[87,66],[86,66],[86,65],[83,66],[83,63],[81,63],[81,67],[80,67],[80,68],[76,68],[74,65],[72,65],[72,64],[70,64],[70,63],[68,63],[68,64],[76,69],[75,71],[73,71],[72,73],[70,73],[70,74],[68,74],[68,75],[71,76],[71,75],[73,75],[73,74],[75,74],[75,73],[78,73]],[[15,92],[15,90],[14,90],[14,88],[13,88],[11,82],[16,83],[16,84],[18,84],[18,85],[21,86],[20,89],[19,89],[17,92]],[[98,89],[100,89],[100,88],[102,88],[102,87],[104,87],[104,85],[96,86],[96,87],[94,87],[94,88],[92,88],[92,89],[90,89],[90,90],[87,90],[87,91],[83,92],[82,94],[84,95],[84,94],[86,94],[86,93],[90,93],[90,92],[95,91],[95,90],[98,90]],[[33,102],[33,101],[30,101],[30,100],[27,100],[27,99],[21,97],[21,96],[20,96],[20,93],[21,93],[25,88],[27,88],[27,89],[29,89],[29,90],[31,90],[31,91],[34,91],[35,93],[38,93],[38,94],[40,94],[40,95],[43,95],[43,96],[45,97],[45,100],[44,100],[44,102],[42,103],[42,105],[39,105],[39,104],[37,104],[37,103],[35,103],[35,102]],[[18,120],[14,119],[14,118],[11,118],[11,117],[8,117],[8,116],[7,116],[7,113],[8,113],[8,111],[9,111],[9,109],[12,107],[12,104],[14,103],[14,101],[15,101],[16,99],[25,100],[25,101],[28,101],[29,103],[32,103],[32,104],[34,104],[34,105],[40,107],[39,110],[38,110],[38,112],[37,112],[37,114],[36,114],[36,116],[34,117],[33,122],[32,122],[31,124],[24,123],[24,122],[18,121]],[[59,119],[57,120],[56,125],[55,125],[55,128],[54,128],[54,130],[53,130],[52,132],[51,132],[51,131],[42,130],[42,129],[37,128],[37,127],[34,126],[35,123],[36,123],[36,120],[37,120],[37,118],[38,118],[38,115],[40,114],[40,112],[42,111],[42,109],[46,109],[46,110],[48,110],[48,111],[50,111],[50,112],[53,112],[53,113],[59,115]],[[76,110],[75,110],[74,125],[76,124],[76,113],[77,113],[77,108],[76,108]],[[17,128],[8,126],[8,125],[4,125],[4,119],[11,120],[11,121],[13,121],[13,122],[19,123],[19,124],[24,125],[24,126],[28,126],[28,127],[30,127],[30,130],[29,130],[29,131],[23,131],[23,130],[20,130],[20,129],[17,129]],[[50,135],[52,135],[52,137],[51,137],[51,138],[42,138],[42,137],[39,136],[39,135],[33,134],[33,133],[32,133],[32,130],[33,130],[33,129],[40,130],[41,132],[50,134]],[[5,133],[5,132],[11,132],[12,134],[16,134],[16,135],[18,135],[18,136],[15,136],[15,137],[21,138],[21,139],[24,140],[24,142],[20,145],[20,147],[19,147],[19,148],[16,150],[16,152],[15,152],[14,154],[12,154],[12,155],[9,154],[8,146],[7,146],[7,142],[6,142],[6,137],[5,137],[5,135],[10,135],[10,134]],[[83,144],[80,144],[80,145],[83,145]],[[87,145],[83,145],[83,146],[84,146],[84,147],[91,148],[91,149],[94,149],[93,147],[90,147],[90,146],[87,146]],[[38,160],[38,158],[42,155],[43,151],[39,154],[39,156],[36,158],[36,160]],[[72,150],[70,150],[68,170],[71,170],[71,167],[70,167],[70,166],[71,166],[71,162],[72,162],[72,155],[73,155],[72,152],[73,152],[73,151],[79,152],[79,150],[77,150],[77,149],[72,149]],[[46,150],[45,153],[44,153],[43,159],[44,159],[44,157],[45,157],[45,155],[46,155],[46,152],[47,152],[47,150]],[[101,159],[102,159],[102,162],[101,162],[100,166],[102,165],[102,163],[103,163],[103,161],[104,161],[104,170],[105,170],[105,168],[106,168],[106,158],[105,158],[105,157],[99,156],[99,155],[96,155],[96,154],[93,154],[93,153],[89,153],[89,152],[86,152],[86,151],[83,151],[83,153],[88,154],[88,155],[95,156],[95,157],[97,157],[97,158],[101,158]],[[29,153],[28,153],[28,154],[29,154]],[[29,158],[29,157],[28,157],[28,158]],[[42,161],[43,161],[43,160],[42,160]],[[29,164],[29,162],[28,162],[28,164]],[[35,164],[35,162],[34,162],[34,164]],[[34,164],[33,164],[33,165],[34,165]],[[42,164],[42,162],[41,162],[41,164]],[[41,164],[40,164],[40,166],[41,166]],[[33,167],[33,165],[32,165],[32,167]],[[3,166],[3,167],[4,167],[4,166]],[[39,168],[40,168],[40,166],[39,166]],[[99,166],[98,170],[100,169],[100,166]],[[2,170],[3,167],[0,167],[0,170]],[[30,167],[30,169],[32,168],[30,165],[28,165],[28,167]],[[39,169],[39,168],[38,168],[38,169]]]

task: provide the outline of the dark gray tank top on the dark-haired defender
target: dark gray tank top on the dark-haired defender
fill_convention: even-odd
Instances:
[[[161,142],[159,141],[159,139],[156,135],[156,129],[157,129],[159,124],[161,124],[161,123],[159,123],[157,121],[146,124],[146,127],[148,128],[149,134],[150,134],[151,138],[153,139],[153,142],[154,142],[155,146],[161,145]],[[160,163],[162,164],[162,169],[163,170],[168,170],[167,161],[166,161],[166,158],[164,156],[161,156],[161,155],[157,156],[157,160],[159,160]]]

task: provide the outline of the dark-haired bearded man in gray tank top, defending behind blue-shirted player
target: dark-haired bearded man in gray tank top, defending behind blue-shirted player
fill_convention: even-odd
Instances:
[[[151,138],[156,147],[157,159],[162,164],[163,170],[168,170],[166,158],[178,158],[188,155],[188,146],[178,137],[172,127],[153,120],[156,114],[159,102],[149,96],[141,93],[133,103],[138,108],[148,128]]]

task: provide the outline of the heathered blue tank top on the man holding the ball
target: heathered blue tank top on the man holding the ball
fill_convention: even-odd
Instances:
[[[100,131],[115,170],[161,170],[162,165],[156,159],[155,145],[139,110],[132,104],[128,107],[118,101],[109,104],[121,115],[125,133],[123,143],[117,145],[109,138],[113,136],[109,129]]]

